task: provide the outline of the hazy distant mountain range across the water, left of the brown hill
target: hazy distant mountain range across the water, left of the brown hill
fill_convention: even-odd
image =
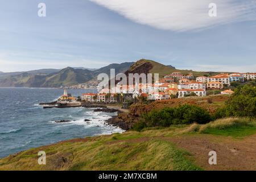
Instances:
[[[29,72],[15,72],[0,77],[1,87],[46,87],[58,88],[60,86],[71,86],[93,80],[100,73],[110,75],[110,69],[115,69],[115,74],[125,72],[133,63],[110,64],[96,70],[75,69],[67,67],[58,69],[40,69]]]

